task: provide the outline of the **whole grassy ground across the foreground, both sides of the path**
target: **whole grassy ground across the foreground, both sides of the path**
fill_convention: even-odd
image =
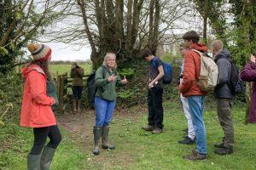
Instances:
[[[177,140],[182,139],[182,129],[187,126],[181,105],[178,102],[166,101],[164,108],[164,133],[157,135],[141,130],[141,127],[147,122],[146,110],[131,108],[131,110],[137,111],[137,115],[124,117],[118,116],[116,113],[117,116],[111,123],[109,136],[109,140],[116,144],[116,150],[101,150],[100,156],[91,155],[92,145],[83,147],[77,141],[72,141],[69,138],[70,135],[73,135],[72,133],[62,131],[63,140],[56,151],[51,169],[255,169],[256,131],[254,125],[243,124],[244,105],[234,106],[236,144],[234,154],[230,156],[214,154],[213,144],[219,142],[224,133],[218,123],[214,107],[205,109],[207,161],[183,159],[184,155],[195,149],[195,144],[177,144]],[[32,144],[31,130],[9,125],[2,128],[0,134],[1,139],[8,139],[11,144],[9,150],[0,156],[0,167],[3,166],[3,169],[25,169],[26,153]]]

